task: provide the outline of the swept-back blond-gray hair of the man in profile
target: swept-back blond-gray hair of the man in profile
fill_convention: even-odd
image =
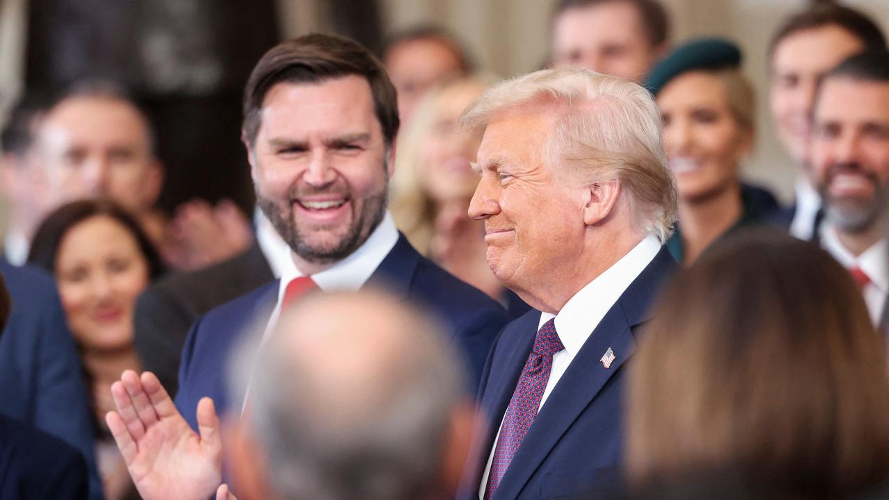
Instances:
[[[464,113],[461,125],[484,127],[523,105],[560,106],[542,151],[589,184],[620,181],[637,228],[665,242],[677,219],[676,180],[661,147],[661,113],[639,85],[579,68],[543,69],[494,85]]]

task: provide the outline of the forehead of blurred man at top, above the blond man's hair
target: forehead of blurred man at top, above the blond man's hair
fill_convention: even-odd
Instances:
[[[557,16],[553,28],[553,40],[557,45],[646,41],[640,12],[636,5],[629,2],[604,2],[569,8]]]

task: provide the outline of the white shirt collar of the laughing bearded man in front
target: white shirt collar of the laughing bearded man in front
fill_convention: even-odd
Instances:
[[[398,242],[398,230],[392,216],[386,212],[380,225],[371,233],[367,241],[348,257],[334,264],[330,269],[312,275],[312,280],[324,292],[355,291],[364,286],[373,271]],[[296,268],[293,259],[284,262],[281,284],[278,287],[278,303],[284,297],[284,288],[293,278],[305,276]]]

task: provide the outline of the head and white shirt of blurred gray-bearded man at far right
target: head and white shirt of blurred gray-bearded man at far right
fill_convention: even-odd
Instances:
[[[821,246],[861,287],[874,324],[889,310],[889,52],[841,62],[813,112],[813,173],[824,200]],[[817,272],[817,270],[813,270]]]

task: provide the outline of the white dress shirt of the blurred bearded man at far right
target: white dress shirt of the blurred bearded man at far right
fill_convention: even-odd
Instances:
[[[837,231],[829,224],[822,223],[821,246],[828,254],[833,255],[845,269],[851,270],[857,267],[870,278],[869,283],[862,289],[862,293],[864,302],[868,304],[870,320],[878,327],[880,319],[883,318],[886,296],[889,294],[889,262],[887,262],[889,241],[883,238],[856,257],[845,249],[843,243],[837,238]]]

